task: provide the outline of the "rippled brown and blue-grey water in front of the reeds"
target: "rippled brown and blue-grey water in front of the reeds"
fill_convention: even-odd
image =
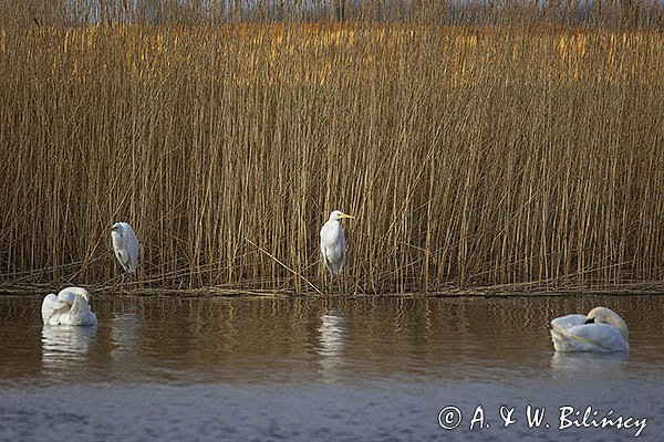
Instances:
[[[44,328],[40,304],[0,297],[1,441],[627,441],[639,430],[560,430],[566,406],[579,421],[587,407],[587,421],[646,419],[639,440],[664,440],[664,296],[108,295],[94,299],[93,328]],[[549,320],[600,304],[627,322],[631,352],[554,354]],[[546,408],[539,427],[529,404]],[[463,414],[454,430],[438,422],[446,407]],[[505,428],[501,407],[517,422]]]

